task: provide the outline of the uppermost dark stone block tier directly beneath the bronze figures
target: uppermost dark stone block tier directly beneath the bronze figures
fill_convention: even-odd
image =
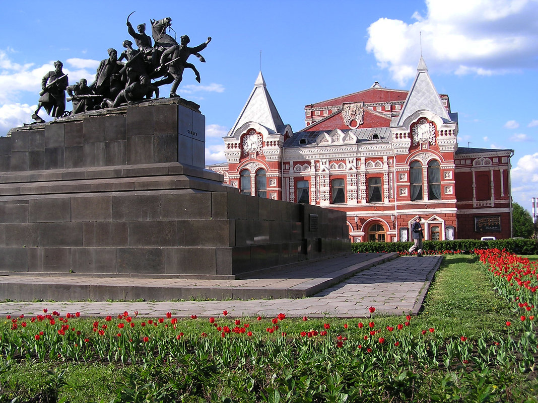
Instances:
[[[165,162],[203,168],[205,118],[179,102],[153,100],[12,129],[0,138],[0,172]]]

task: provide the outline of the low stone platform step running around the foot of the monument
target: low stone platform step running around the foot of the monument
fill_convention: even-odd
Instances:
[[[394,260],[397,253],[347,254],[270,268],[242,279],[167,275],[25,274],[3,276],[0,295],[9,300],[152,300],[304,298],[358,272]],[[232,276],[231,276],[232,277]]]

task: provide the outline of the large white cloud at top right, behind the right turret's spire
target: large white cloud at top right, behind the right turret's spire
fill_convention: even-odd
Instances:
[[[493,75],[535,66],[538,53],[536,0],[427,0],[413,23],[380,18],[367,32],[366,51],[404,85],[420,55],[436,71]]]

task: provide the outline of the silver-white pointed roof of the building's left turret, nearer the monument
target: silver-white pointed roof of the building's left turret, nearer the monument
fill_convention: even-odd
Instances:
[[[264,76],[261,74],[261,71],[258,74],[258,78],[256,78],[249,99],[247,99],[245,106],[243,106],[243,110],[239,113],[236,123],[228,132],[228,136],[233,135],[237,128],[250,121],[265,126],[269,133],[277,133],[277,128],[284,125],[277,108],[274,106],[271,95],[269,95],[269,92],[267,91]]]

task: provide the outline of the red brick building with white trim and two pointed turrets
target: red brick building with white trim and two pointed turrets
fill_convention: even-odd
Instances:
[[[261,72],[207,168],[252,196],[345,211],[352,241],[511,236],[513,150],[458,147],[457,113],[420,59],[409,91],[371,88],[305,106],[306,127],[280,118]]]

